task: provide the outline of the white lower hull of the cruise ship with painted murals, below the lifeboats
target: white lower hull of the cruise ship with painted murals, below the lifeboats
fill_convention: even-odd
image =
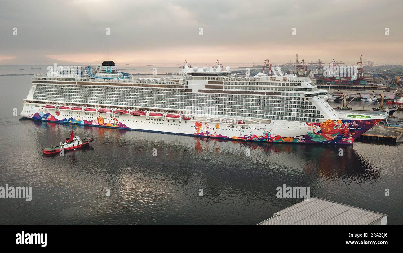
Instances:
[[[243,141],[284,143],[352,144],[359,135],[377,124],[371,116],[326,120],[321,123],[271,120],[270,124],[236,124],[197,120],[172,120],[133,115],[67,112],[24,104],[21,116],[58,123],[81,124],[154,133],[191,135]],[[349,115],[351,116],[351,115]],[[352,115],[360,116],[360,115]]]

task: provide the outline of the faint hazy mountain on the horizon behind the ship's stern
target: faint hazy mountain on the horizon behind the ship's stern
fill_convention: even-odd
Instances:
[[[0,65],[100,65],[102,62],[70,62],[56,60],[45,56],[18,56],[12,59],[0,60]]]

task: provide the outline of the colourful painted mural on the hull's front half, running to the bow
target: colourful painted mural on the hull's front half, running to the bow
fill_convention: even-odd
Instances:
[[[225,139],[240,139],[245,141],[269,141],[269,142],[284,142],[284,143],[338,143],[338,144],[352,144],[355,139],[360,135],[378,124],[382,119],[376,120],[331,120],[328,119],[321,123],[306,122],[308,131],[305,135],[295,137],[282,137],[280,135],[273,135],[273,129],[264,130],[262,135],[255,135],[250,132],[250,135],[242,135],[237,137],[229,137],[216,133],[216,128],[211,130],[208,123],[195,122],[195,135],[206,137],[218,137]],[[218,127],[217,127],[218,126]],[[309,130],[312,129],[312,132]],[[210,131],[213,131],[211,133]]]

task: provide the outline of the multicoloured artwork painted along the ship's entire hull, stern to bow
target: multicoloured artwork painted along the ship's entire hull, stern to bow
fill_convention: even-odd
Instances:
[[[56,114],[57,113],[58,111],[56,111]],[[267,141],[267,142],[281,142],[281,143],[334,143],[334,144],[353,144],[354,140],[357,139],[361,134],[365,133],[366,131],[371,129],[372,126],[378,124],[378,122],[382,120],[382,119],[351,119],[351,120],[328,119],[322,123],[306,122],[305,133],[301,130],[299,131],[301,135],[298,136],[281,136],[275,134],[276,132],[284,133],[287,131],[285,131],[284,129],[281,130],[270,129],[269,127],[270,124],[257,124],[257,125],[232,124],[231,126],[229,126],[229,124],[222,125],[222,127],[237,129],[236,130],[237,132],[234,131],[234,133],[239,133],[239,136],[236,136],[236,135],[222,135],[217,133],[217,131],[223,132],[222,130],[224,129],[222,129],[222,127],[220,127],[219,124],[224,123],[216,124],[213,122],[191,121],[188,123],[191,123],[191,125],[194,123],[193,128],[189,127],[189,129],[185,131],[179,128],[176,129],[172,128],[172,126],[170,126],[170,129],[168,129],[168,126],[162,126],[162,125],[161,129],[147,129],[146,127],[150,125],[143,125],[139,127],[135,125],[136,128],[131,128],[126,124],[120,122],[117,118],[113,117],[111,119],[106,119],[102,116],[98,116],[96,120],[83,120],[75,117],[74,118],[71,117],[68,119],[67,118],[57,119],[56,117],[54,117],[54,115],[50,113],[44,113],[42,110],[40,112],[36,112],[33,115],[31,114],[27,116],[29,116],[29,118],[34,120],[47,120],[52,122],[84,124],[90,126],[116,127],[120,129],[133,129],[138,131],[193,135],[198,137],[235,139],[242,141]],[[210,126],[209,123],[212,124],[212,126]],[[143,122],[143,124],[145,124],[145,122]],[[295,133],[295,131],[290,131],[290,133],[291,132]]]

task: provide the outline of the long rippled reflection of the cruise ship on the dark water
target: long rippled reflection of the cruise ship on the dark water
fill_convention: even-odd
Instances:
[[[206,163],[208,164],[207,166],[213,166],[214,164],[214,166],[220,167],[223,164],[229,164],[231,168],[239,171],[239,173],[246,173],[247,171],[245,170],[251,168],[251,166],[257,166],[262,169],[270,168],[271,173],[282,174],[283,176],[302,172],[303,174],[316,174],[318,178],[334,176],[347,176],[351,177],[351,180],[354,180],[354,178],[362,180],[378,178],[376,168],[368,164],[352,146],[346,145],[287,145],[283,143],[239,142],[178,135],[162,136],[160,134],[156,134],[160,137],[157,136],[155,141],[150,141],[147,133],[109,128],[91,128],[79,125],[64,126],[40,121],[30,122],[40,128],[52,128],[52,131],[47,131],[47,133],[52,133],[52,136],[55,136],[54,138],[60,136],[60,133],[69,127],[79,128],[81,131],[91,131],[93,136],[98,138],[101,143],[107,144],[108,150],[112,152],[111,156],[113,156],[114,152],[122,150],[123,147],[123,149],[129,150],[131,155],[136,154],[135,157],[153,158],[152,150],[154,148],[158,149],[158,159],[153,163],[147,164],[143,162],[148,161],[147,159],[129,159],[137,163],[136,168],[138,166],[149,168],[161,162],[164,164],[170,164],[170,162],[179,163],[185,167],[189,166],[189,164],[197,166],[197,163],[201,163],[200,159],[209,159],[209,162]],[[191,144],[192,142],[194,142],[193,145]],[[141,146],[133,145],[133,143],[141,143]],[[190,145],[186,145],[186,143]],[[365,144],[363,143],[363,145]],[[250,156],[245,155],[247,149],[249,149]],[[340,156],[341,151],[343,152],[342,156]],[[201,164],[199,165],[202,166]]]

